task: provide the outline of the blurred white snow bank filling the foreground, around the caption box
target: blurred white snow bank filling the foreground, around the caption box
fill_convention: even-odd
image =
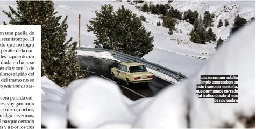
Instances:
[[[255,121],[254,28],[255,21],[226,42],[193,77],[151,98],[131,101],[115,83],[99,77],[75,80],[66,91],[41,77],[41,107],[48,109],[42,111],[42,125],[62,128],[70,120],[77,128],[255,128],[255,123],[246,123]],[[241,44],[245,36],[251,38]],[[198,98],[200,75],[239,75],[239,103]]]

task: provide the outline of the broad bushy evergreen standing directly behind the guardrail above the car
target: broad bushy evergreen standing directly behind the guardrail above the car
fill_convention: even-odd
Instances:
[[[91,26],[87,25],[88,32],[93,31],[96,34],[97,40],[94,44],[108,45],[108,49],[139,58],[153,50],[154,37],[151,32],[146,31],[140,18],[131,10],[121,6],[113,12],[113,7],[109,4],[102,6],[101,11],[95,13],[96,18],[89,21]],[[111,16],[106,17],[105,14]]]

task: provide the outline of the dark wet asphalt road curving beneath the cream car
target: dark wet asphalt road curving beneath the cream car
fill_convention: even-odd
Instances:
[[[111,80],[111,67],[117,67],[117,65],[119,64],[119,62],[109,59],[95,58],[89,56],[77,57],[79,58],[80,63],[83,63],[83,70],[85,70],[87,66],[91,66],[89,75],[100,76],[108,80]],[[133,84],[131,86],[127,86],[125,84],[125,81],[118,79],[112,81],[116,82],[122,90],[123,94],[131,100],[138,100],[144,97],[152,97],[166,86],[173,85],[172,83],[155,76],[153,77],[153,80],[148,83],[148,85]]]

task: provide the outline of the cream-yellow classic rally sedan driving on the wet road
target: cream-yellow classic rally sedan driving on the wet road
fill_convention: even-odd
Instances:
[[[111,68],[111,78],[131,83],[146,83],[153,80],[153,74],[148,72],[145,65],[137,62],[120,63],[117,67]]]

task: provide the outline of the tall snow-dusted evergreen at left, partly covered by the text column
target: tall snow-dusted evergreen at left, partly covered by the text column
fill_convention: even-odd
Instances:
[[[79,75],[81,64],[77,64],[76,44],[66,42],[67,16],[55,16],[52,1],[16,1],[17,11],[9,6],[10,12],[3,13],[10,18],[11,25],[41,25],[41,76],[46,76],[59,86],[71,81],[87,78],[88,72]],[[4,22],[4,25],[7,25]],[[68,48],[71,48],[68,50]],[[89,69],[88,69],[89,70]]]

